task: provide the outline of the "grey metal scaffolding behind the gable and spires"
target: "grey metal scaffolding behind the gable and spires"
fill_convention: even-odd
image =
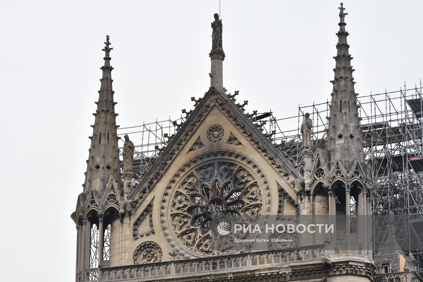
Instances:
[[[423,97],[422,85],[400,88],[379,94],[358,96],[361,117],[362,140],[366,160],[372,165],[374,182],[379,187],[380,198],[374,198],[372,212],[386,215],[393,211],[406,216],[397,226],[397,241],[402,250],[412,253],[423,267]],[[302,170],[302,140],[300,126],[303,115],[308,112],[313,120],[313,150],[325,149],[327,116],[330,101],[298,107],[298,114],[277,119],[272,111],[254,113],[254,122],[263,123],[264,132],[275,130],[272,142],[291,163]],[[176,122],[184,121],[181,116]],[[282,130],[283,128],[294,128]],[[151,160],[157,158],[157,147],[167,140],[165,133],[176,133],[176,126],[168,119],[162,122],[143,123],[135,127],[118,129],[118,135],[128,134],[135,145],[134,172],[136,185],[149,169]],[[119,148],[120,151],[122,148]],[[412,218],[408,218],[412,216]],[[385,222],[373,224],[374,252],[387,236]]]

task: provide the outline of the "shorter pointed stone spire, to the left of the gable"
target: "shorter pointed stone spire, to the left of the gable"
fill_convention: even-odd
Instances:
[[[120,161],[118,149],[118,135],[116,129],[115,105],[113,102],[112,76],[113,67],[110,66],[110,42],[109,36],[106,36],[106,46],[102,49],[105,53],[104,66],[100,69],[103,71],[101,86],[99,90],[99,101],[93,127],[93,135],[91,139],[91,147],[89,149],[89,158],[87,160],[87,172],[85,172],[84,192],[103,191],[110,177],[114,177],[115,181],[120,183]]]

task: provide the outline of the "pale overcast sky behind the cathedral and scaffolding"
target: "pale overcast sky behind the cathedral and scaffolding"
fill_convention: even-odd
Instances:
[[[224,86],[277,117],[330,97],[339,1],[221,1]],[[209,1],[2,1],[2,279],[74,281],[76,230],[110,36],[117,123],[179,116],[209,88]],[[422,1],[344,1],[356,92],[422,77]],[[281,125],[281,124],[280,124]],[[283,124],[282,124],[283,126]]]

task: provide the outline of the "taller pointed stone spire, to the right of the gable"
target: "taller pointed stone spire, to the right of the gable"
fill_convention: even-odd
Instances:
[[[332,103],[330,108],[329,126],[327,134],[327,150],[331,151],[332,160],[359,160],[363,162],[363,144],[361,140],[360,119],[358,116],[357,93],[354,91],[354,77],[351,66],[352,56],[345,30],[345,16],[343,3],[339,8],[339,32],[337,54],[335,57],[335,79],[333,84]]]

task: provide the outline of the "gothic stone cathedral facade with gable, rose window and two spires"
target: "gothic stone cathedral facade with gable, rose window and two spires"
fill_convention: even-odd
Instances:
[[[185,121],[175,123],[177,132],[166,135],[166,146],[132,187],[134,144],[125,136],[121,170],[107,36],[85,183],[71,216],[77,282],[375,280],[367,216],[377,188],[363,154],[342,3],[340,10],[327,147],[313,150],[305,115],[301,171],[263,133],[263,123],[244,112],[247,102],[236,102],[238,92],[226,93],[215,14],[211,85],[191,98],[195,108],[184,111]],[[352,201],[360,218],[354,223]],[[233,237],[214,239],[212,220],[220,215],[296,224],[301,216],[322,216],[335,232],[282,233],[264,249],[230,249]]]

